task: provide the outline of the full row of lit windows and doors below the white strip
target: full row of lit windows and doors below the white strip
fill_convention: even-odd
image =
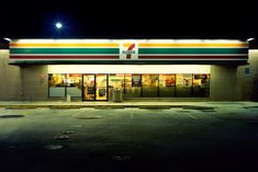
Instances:
[[[82,100],[111,100],[113,89],[121,89],[124,98],[210,96],[210,73],[49,73],[48,84],[51,98],[81,98],[83,94]]]

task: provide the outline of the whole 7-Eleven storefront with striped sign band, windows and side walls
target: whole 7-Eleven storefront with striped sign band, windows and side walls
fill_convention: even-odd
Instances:
[[[10,65],[21,72],[24,98],[108,101],[113,89],[130,98],[234,100],[240,41],[16,39]]]

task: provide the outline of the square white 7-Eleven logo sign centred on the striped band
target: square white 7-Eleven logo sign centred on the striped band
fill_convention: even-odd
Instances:
[[[138,44],[137,43],[121,43],[120,44],[120,59],[138,59]]]

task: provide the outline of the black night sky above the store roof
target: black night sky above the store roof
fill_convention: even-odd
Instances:
[[[247,38],[258,35],[255,3],[250,0],[5,0],[1,1],[0,36]],[[54,27],[58,20],[65,25],[60,32]]]

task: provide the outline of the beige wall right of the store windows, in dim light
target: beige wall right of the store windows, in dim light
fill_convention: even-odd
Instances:
[[[246,74],[245,69],[250,73]],[[258,99],[254,90],[255,74],[258,76],[258,49],[249,50],[248,65],[212,66],[211,100],[214,101],[251,101]]]

